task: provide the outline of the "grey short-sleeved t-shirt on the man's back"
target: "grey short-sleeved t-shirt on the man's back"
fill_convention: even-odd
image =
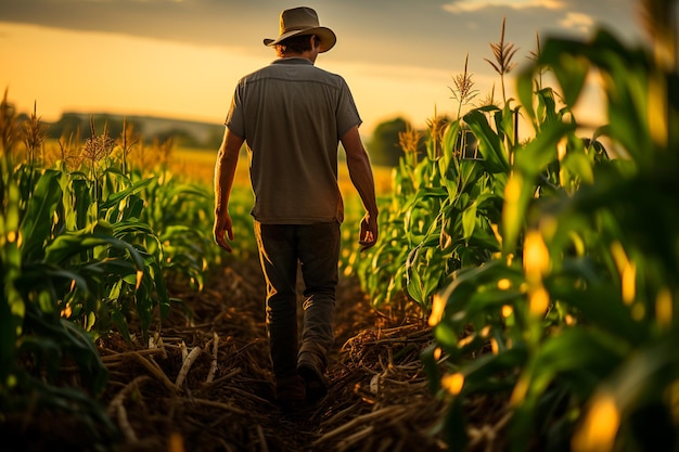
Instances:
[[[277,60],[239,81],[225,124],[247,143],[257,221],[343,221],[337,147],[361,118],[341,76]]]

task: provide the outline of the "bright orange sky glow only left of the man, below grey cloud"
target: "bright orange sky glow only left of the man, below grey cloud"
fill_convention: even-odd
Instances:
[[[219,48],[30,25],[2,28],[9,99],[20,109],[37,102],[46,118],[105,111],[221,120],[231,94],[223,87],[235,82],[228,67],[247,70],[261,63]]]

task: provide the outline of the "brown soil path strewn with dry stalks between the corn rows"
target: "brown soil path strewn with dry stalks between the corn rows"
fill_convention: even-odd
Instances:
[[[449,450],[443,432],[448,406],[430,390],[420,361],[432,332],[406,299],[398,309],[376,310],[358,282],[343,275],[329,395],[315,406],[284,412],[273,398],[258,261],[225,264],[201,290],[170,286],[182,304],[148,344],[119,336],[99,344],[110,372],[101,400],[117,436],[93,443],[69,431],[80,427],[67,419],[33,416],[23,447],[11,450]],[[466,410],[477,412],[479,425],[488,417],[496,423],[489,413],[502,411],[487,400]],[[496,431],[471,430],[476,434],[466,450],[495,450]]]

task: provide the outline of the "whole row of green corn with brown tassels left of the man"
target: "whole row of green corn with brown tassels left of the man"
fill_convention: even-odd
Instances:
[[[158,184],[168,172],[142,177],[119,166],[117,152],[130,147],[116,148],[105,128],[97,134],[93,124],[75,168],[65,160],[47,167],[33,157],[17,165],[18,140],[4,129],[15,130],[13,107],[3,102],[1,111],[1,410],[26,410],[34,400],[69,412],[90,435],[113,435],[95,402],[107,373],[93,339],[113,331],[130,338],[134,325],[143,340],[169,310],[166,277],[202,282],[212,221],[201,219],[212,203],[197,188]],[[33,146],[28,155],[37,155],[46,130],[35,114],[23,138]],[[73,142],[60,140],[63,157],[73,154]],[[161,233],[145,221],[154,218],[145,214],[150,196],[166,212],[179,212],[156,221]],[[64,362],[78,366],[89,396],[57,387]]]

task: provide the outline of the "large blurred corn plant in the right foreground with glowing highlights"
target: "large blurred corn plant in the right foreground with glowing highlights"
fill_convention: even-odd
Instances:
[[[545,67],[566,105],[592,68],[602,75],[608,124],[592,139],[534,89]],[[451,400],[450,439],[464,443],[463,400],[484,392],[508,397],[514,451],[674,450],[678,77],[600,30],[549,39],[518,80],[536,137],[514,152],[502,253],[457,271],[430,318],[424,359]]]

